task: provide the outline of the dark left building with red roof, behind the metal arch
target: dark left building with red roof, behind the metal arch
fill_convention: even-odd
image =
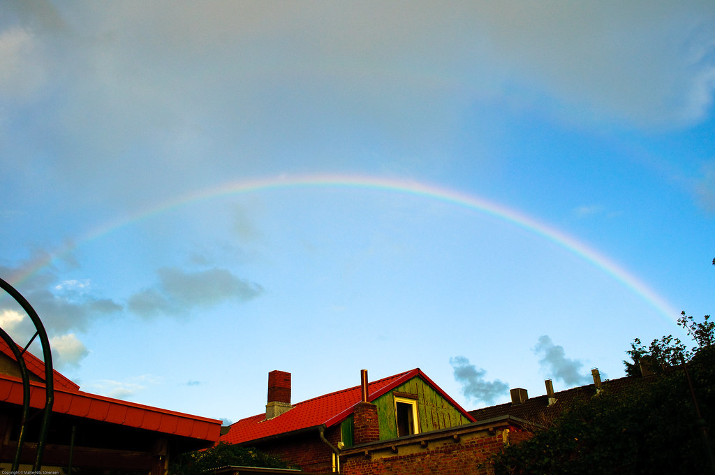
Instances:
[[[31,419],[26,424],[20,462],[35,461],[45,406],[44,363],[23,354],[29,373]],[[54,404],[46,433],[42,469],[72,468],[167,473],[172,456],[204,449],[219,439],[221,421],[107,398],[79,390],[54,371]],[[24,385],[14,353],[0,340],[0,470],[11,469],[21,427]]]

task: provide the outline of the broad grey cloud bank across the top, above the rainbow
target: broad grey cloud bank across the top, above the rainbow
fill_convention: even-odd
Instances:
[[[354,165],[366,138],[389,141],[395,155],[440,150],[450,125],[485,102],[560,107],[578,124],[680,127],[705,117],[715,89],[712,2],[44,10],[0,24],[4,88],[56,94],[8,125],[22,140],[0,157],[54,157],[43,171],[58,184],[114,205],[265,172],[289,153],[315,167]]]

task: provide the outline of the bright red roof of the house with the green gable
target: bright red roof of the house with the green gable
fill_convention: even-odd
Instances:
[[[368,383],[368,401],[374,401],[415,376],[420,376],[427,381],[445,399],[462,411],[466,417],[473,420],[467,411],[455,403],[420,368]],[[242,444],[243,442],[255,441],[320,425],[330,427],[350,416],[352,411],[355,410],[355,405],[360,402],[360,398],[360,386],[354,386],[296,403],[290,411],[268,421],[265,420],[265,413],[260,413],[233,423],[228,433],[221,436],[221,441],[230,444]]]

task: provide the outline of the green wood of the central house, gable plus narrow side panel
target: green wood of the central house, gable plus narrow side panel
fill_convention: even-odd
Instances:
[[[398,415],[395,402],[416,403],[417,431],[422,433],[438,429],[460,426],[470,420],[453,403],[445,399],[437,390],[430,386],[420,376],[415,376],[392,391],[375,399],[373,404],[378,406],[378,420],[380,422],[380,440],[395,439],[398,437]],[[408,405],[402,406],[405,408]],[[402,409],[398,408],[398,411]],[[346,447],[353,445],[353,418],[348,416],[342,422],[340,431],[342,442]],[[402,430],[405,435],[404,430]]]

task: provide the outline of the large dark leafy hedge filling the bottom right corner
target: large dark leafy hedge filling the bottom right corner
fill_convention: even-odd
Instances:
[[[715,347],[702,348],[688,367],[702,417],[713,421]],[[507,447],[493,459],[495,474],[706,473],[695,421],[681,368],[634,379],[623,391],[575,403],[548,429]]]

